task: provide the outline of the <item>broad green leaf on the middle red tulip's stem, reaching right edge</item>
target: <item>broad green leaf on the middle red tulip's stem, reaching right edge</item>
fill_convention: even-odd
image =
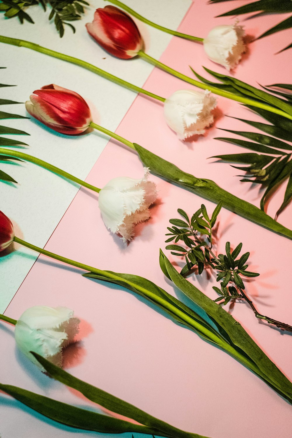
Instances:
[[[183,172],[174,164],[158,157],[158,155],[144,149],[142,146],[134,143],[135,149],[139,154],[141,161],[146,167],[149,167],[152,173],[160,175],[161,177],[169,180],[180,187],[192,191],[201,198],[208,199],[209,201],[218,204],[222,201],[223,207],[228,210],[237,213],[244,218],[264,226],[275,233],[282,234],[286,237],[292,238],[292,231],[288,230],[266,213],[255,207],[249,202],[243,201],[237,198],[228,191],[225,191],[219,187],[214,181],[196,178],[190,173]]]

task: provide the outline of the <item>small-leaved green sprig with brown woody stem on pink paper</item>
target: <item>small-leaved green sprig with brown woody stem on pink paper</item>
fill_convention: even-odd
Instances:
[[[194,267],[197,268],[199,275],[204,271],[204,268],[209,267],[213,269],[216,271],[216,281],[220,282],[220,289],[217,286],[213,286],[213,289],[219,295],[214,301],[226,305],[230,300],[245,300],[257,318],[292,332],[292,326],[260,314],[244,292],[243,277],[257,277],[260,274],[247,271],[249,266],[247,261],[250,253],[245,252],[239,256],[243,244],[239,243],[231,251],[230,242],[226,242],[225,254],[218,254],[216,256],[213,252],[212,243],[214,239],[212,237],[212,230],[221,208],[222,202],[216,206],[211,219],[204,204],[201,205],[201,208],[191,218],[189,218],[184,210],[179,208],[177,211],[184,220],[169,220],[172,227],[167,227],[169,233],[166,236],[170,237],[165,242],[174,241],[174,244],[167,245],[166,249],[170,250],[172,255],[185,258],[186,264],[183,266],[180,274],[186,276]],[[179,240],[183,241],[184,247],[178,244]]]

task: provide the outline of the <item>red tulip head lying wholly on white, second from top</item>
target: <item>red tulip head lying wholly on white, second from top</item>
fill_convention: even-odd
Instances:
[[[85,100],[74,91],[55,84],[35,90],[25,107],[31,116],[61,134],[81,134],[92,121]]]

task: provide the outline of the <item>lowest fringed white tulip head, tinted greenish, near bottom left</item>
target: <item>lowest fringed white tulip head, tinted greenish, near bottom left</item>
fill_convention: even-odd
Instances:
[[[61,366],[63,348],[73,342],[79,331],[80,320],[73,314],[67,307],[30,307],[15,325],[14,336],[19,350],[42,371],[45,369],[30,351]]]

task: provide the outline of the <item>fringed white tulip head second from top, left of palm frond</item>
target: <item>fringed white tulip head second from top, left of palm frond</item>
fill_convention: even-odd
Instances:
[[[216,98],[208,90],[178,90],[165,100],[164,117],[178,138],[186,140],[195,134],[204,134],[214,120],[211,110],[216,105]]]

